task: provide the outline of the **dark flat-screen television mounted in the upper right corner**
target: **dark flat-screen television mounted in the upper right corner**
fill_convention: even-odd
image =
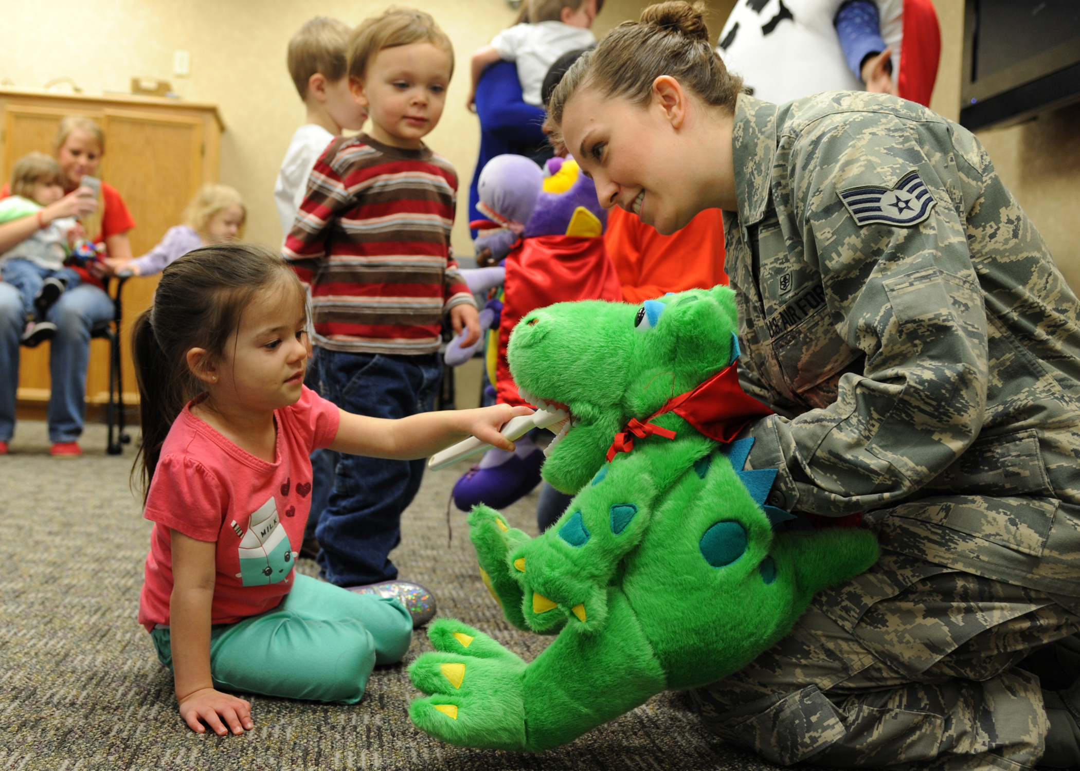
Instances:
[[[1018,123],[1080,102],[1080,0],[967,0],[960,124]]]

